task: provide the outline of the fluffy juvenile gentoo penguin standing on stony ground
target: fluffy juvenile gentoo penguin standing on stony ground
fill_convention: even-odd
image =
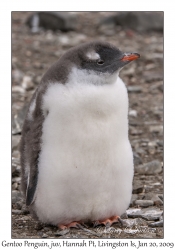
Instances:
[[[21,139],[26,205],[41,222],[111,225],[128,208],[133,153],[118,75],[137,58],[95,41],[68,50],[43,76]]]

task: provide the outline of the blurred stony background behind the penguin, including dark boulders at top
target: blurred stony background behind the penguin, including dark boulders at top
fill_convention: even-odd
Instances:
[[[135,163],[130,206],[144,208],[137,201],[151,200],[153,203],[145,207],[154,205],[162,211],[163,23],[163,12],[12,12],[14,238],[26,237],[27,232],[32,237],[32,231],[21,232],[17,222],[20,216],[28,215],[20,193],[18,147],[29,100],[51,64],[69,48],[92,40],[107,41],[123,52],[141,55],[120,72],[129,94],[129,137]],[[38,235],[34,231],[33,235]],[[156,237],[162,235],[157,233]]]

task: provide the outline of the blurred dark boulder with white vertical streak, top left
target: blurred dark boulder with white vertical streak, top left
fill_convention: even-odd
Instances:
[[[33,33],[46,30],[70,31],[77,29],[77,16],[70,12],[44,11],[32,14],[26,21]]]

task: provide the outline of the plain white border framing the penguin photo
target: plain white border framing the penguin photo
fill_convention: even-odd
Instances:
[[[175,15],[173,1],[8,1],[1,3],[0,11],[0,245],[11,239],[11,11],[164,11],[165,18],[165,238],[174,241],[174,190],[175,190]],[[42,240],[31,240],[31,242]],[[122,242],[127,240],[122,240]],[[134,241],[134,240],[133,240]],[[136,240],[137,241],[137,240]],[[147,240],[156,241],[158,240]],[[18,240],[18,242],[23,242]],[[11,249],[11,248],[8,248]],[[15,249],[15,247],[13,247]]]

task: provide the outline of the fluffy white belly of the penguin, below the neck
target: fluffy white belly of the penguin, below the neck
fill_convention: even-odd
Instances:
[[[105,219],[129,206],[133,156],[127,116],[117,114],[113,88],[96,88],[77,92],[55,85],[52,98],[46,96],[34,203],[42,222]]]

